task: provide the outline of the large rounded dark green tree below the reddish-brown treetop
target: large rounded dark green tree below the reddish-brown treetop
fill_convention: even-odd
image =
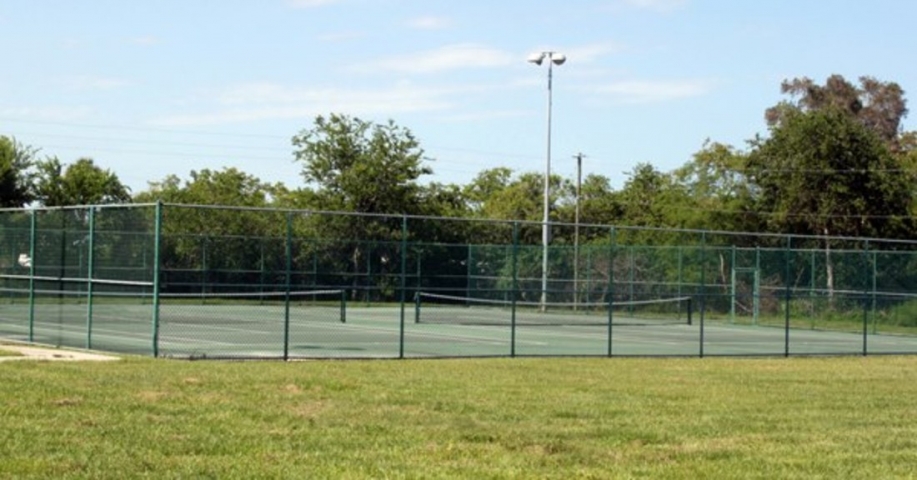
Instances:
[[[748,159],[758,210],[774,231],[899,237],[908,176],[877,134],[830,108],[793,115]]]

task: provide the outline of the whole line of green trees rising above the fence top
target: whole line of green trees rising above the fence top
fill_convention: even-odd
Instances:
[[[552,221],[573,223],[578,205],[582,224],[914,238],[917,132],[902,128],[908,112],[903,89],[872,77],[851,82],[834,75],[824,84],[787,80],[781,92],[786,99],[764,112],[767,134],[741,147],[708,140],[689,161],[668,172],[641,163],[620,189],[597,173],[585,176],[579,192],[572,180],[552,176]],[[319,116],[292,138],[292,150],[302,167],[301,186],[267,183],[227,167],[192,171],[186,179],[170,175],[132,193],[116,173],[90,158],[64,164],[0,137],[0,206],[162,200],[541,220],[543,174],[494,167],[465,185],[427,182],[433,170],[420,142],[392,121]],[[346,238],[384,238],[395,227],[351,222],[324,228]],[[555,243],[572,243],[566,238],[572,230],[558,232]],[[468,234],[424,232],[431,237],[426,240],[460,241]],[[521,240],[538,242],[537,232],[528,235],[532,238]]]

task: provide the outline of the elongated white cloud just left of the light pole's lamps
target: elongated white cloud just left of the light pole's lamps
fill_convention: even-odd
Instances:
[[[465,68],[493,68],[518,62],[515,55],[475,44],[448,45],[436,50],[379,59],[353,67],[360,72],[389,70],[402,73],[434,73]]]

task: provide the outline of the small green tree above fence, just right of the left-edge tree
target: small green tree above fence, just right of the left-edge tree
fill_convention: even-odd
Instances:
[[[130,190],[110,170],[81,158],[66,168],[57,158],[37,162],[35,197],[46,207],[130,202]]]

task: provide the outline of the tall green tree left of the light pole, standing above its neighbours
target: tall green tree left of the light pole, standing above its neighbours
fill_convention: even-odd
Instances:
[[[398,268],[388,259],[400,248],[399,214],[426,213],[417,180],[432,170],[413,134],[391,121],[377,125],[332,114],[317,117],[292,143],[316,207],[356,214],[312,216],[297,224],[299,250],[326,271],[339,272],[335,284],[348,281],[354,294],[363,272],[371,270],[377,282],[389,278]]]

